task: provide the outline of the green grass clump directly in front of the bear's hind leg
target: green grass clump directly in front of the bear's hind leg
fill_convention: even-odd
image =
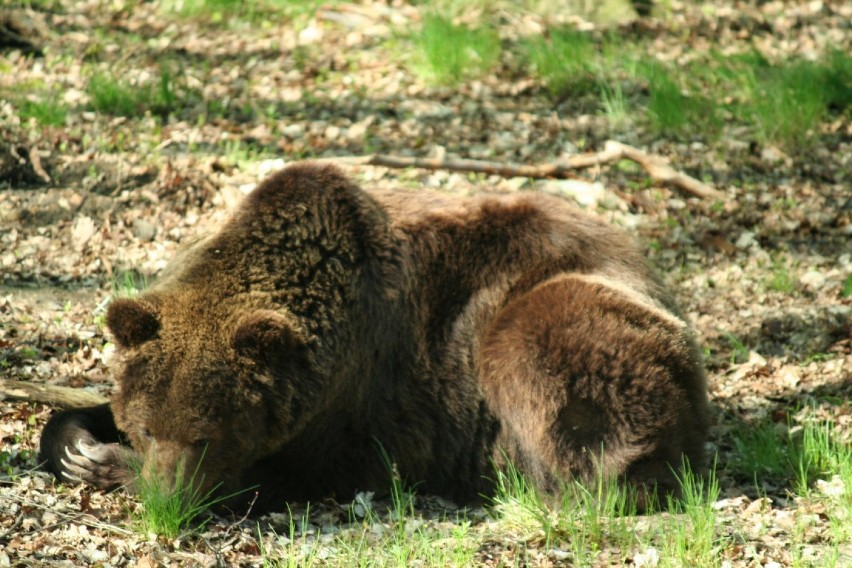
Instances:
[[[603,554],[624,564],[648,546],[663,553],[664,566],[718,564],[724,539],[716,529],[715,467],[703,477],[684,465],[678,480],[682,496],[667,497],[668,512],[656,515],[659,507],[651,499],[646,510],[651,516],[636,516],[635,490],[616,479],[569,483],[553,506],[509,465],[497,473],[493,505],[502,525],[527,539],[535,540],[539,532],[546,548],[565,550],[574,566],[596,565]]]

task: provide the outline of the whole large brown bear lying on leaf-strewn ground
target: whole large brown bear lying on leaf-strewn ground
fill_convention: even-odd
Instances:
[[[62,480],[131,483],[138,456],[280,509],[387,488],[378,447],[459,502],[507,458],[544,491],[599,468],[672,490],[703,462],[687,325],[627,236],[554,197],[368,193],[293,165],[106,320],[112,403],[42,435]]]

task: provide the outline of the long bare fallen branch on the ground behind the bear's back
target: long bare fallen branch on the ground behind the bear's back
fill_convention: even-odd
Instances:
[[[694,177],[674,170],[660,156],[654,156],[642,150],[610,140],[603,151],[594,154],[579,154],[550,164],[524,165],[510,162],[486,162],[482,160],[447,160],[443,158],[405,158],[373,154],[370,156],[354,156],[343,158],[328,158],[328,161],[350,166],[384,166],[387,168],[423,168],[426,170],[448,170],[455,172],[473,172],[499,175],[503,177],[529,178],[569,178],[577,170],[585,170],[620,160],[630,160],[639,164],[656,182],[670,185],[675,189],[686,192],[702,199],[724,199],[725,195],[713,189]]]

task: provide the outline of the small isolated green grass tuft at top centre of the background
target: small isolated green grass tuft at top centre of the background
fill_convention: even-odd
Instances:
[[[415,70],[427,80],[443,85],[484,75],[500,57],[500,39],[494,30],[456,25],[436,14],[424,18],[415,45]]]

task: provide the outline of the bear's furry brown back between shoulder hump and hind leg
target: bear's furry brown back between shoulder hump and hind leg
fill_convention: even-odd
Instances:
[[[564,273],[607,280],[637,301],[673,302],[622,231],[538,193],[461,197],[369,192],[388,212],[407,258],[404,278],[422,314],[424,350],[476,335],[507,299]]]

